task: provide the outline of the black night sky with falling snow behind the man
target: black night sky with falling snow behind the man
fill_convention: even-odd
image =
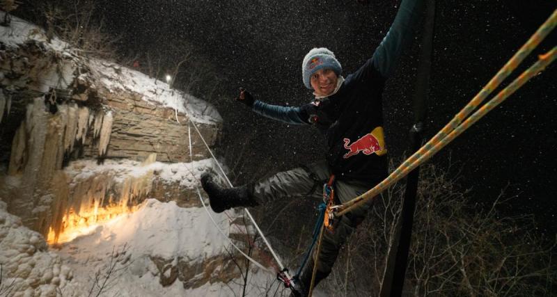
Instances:
[[[311,127],[288,127],[254,115],[232,102],[244,86],[272,104],[308,102],[301,83],[301,60],[312,47],[329,47],[345,74],[369,58],[396,13],[396,1],[98,1],[120,45],[161,47],[189,40],[200,47],[225,79],[212,100],[225,120],[218,151],[233,163],[246,147],[243,177],[276,172],[324,156],[324,141]],[[528,2],[528,3],[526,3]],[[430,138],[556,8],[554,1],[437,1],[434,62],[430,89]],[[419,40],[419,37],[416,39]],[[541,54],[556,44],[556,33]],[[384,93],[386,141],[391,156],[407,149],[413,115],[418,42],[406,51]],[[525,65],[531,65],[528,58]],[[524,70],[522,67],[519,70]],[[460,183],[473,188],[472,199],[492,201],[519,194],[510,214],[534,213],[542,229],[554,234],[557,202],[557,86],[553,65],[502,106],[466,131],[432,161],[461,172]],[[246,143],[248,143],[246,145]],[[264,164],[264,166],[261,166]]]

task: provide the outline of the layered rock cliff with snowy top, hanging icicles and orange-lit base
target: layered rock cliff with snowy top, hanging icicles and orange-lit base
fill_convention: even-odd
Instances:
[[[49,243],[69,241],[76,236],[70,230],[130,213],[148,198],[199,209],[194,184],[213,163],[193,124],[214,145],[221,118],[206,102],[79,56],[21,19],[0,26],[0,203]],[[148,258],[163,286],[238,276],[226,253]],[[44,284],[56,287],[55,279]],[[21,286],[17,292],[30,289]]]

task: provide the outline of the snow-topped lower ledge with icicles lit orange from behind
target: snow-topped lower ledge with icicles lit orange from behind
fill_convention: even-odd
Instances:
[[[97,165],[91,160],[74,161],[65,169],[65,177],[72,182],[64,202],[66,210],[59,215],[63,219],[50,228],[47,241],[70,241],[91,232],[100,223],[132,213],[140,199],[148,197],[155,171],[161,182],[194,188],[201,172],[212,166],[209,159],[194,163],[160,163],[155,161],[155,154],[143,163],[107,160]]]

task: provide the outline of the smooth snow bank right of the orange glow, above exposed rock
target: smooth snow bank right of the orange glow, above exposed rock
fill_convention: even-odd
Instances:
[[[212,215],[221,229],[228,229],[225,214]],[[185,257],[195,261],[225,253],[225,241],[203,208],[185,209],[175,202],[150,199],[134,213],[100,225],[92,234],[64,245],[62,251],[79,262],[95,255],[104,257],[113,247],[126,244],[134,257]],[[71,252],[76,248],[79,252]]]

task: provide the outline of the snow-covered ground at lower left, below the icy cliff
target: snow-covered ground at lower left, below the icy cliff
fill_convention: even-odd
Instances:
[[[226,216],[212,215],[226,230]],[[99,287],[103,287],[100,296],[223,297],[242,293],[239,278],[228,284],[207,282],[195,289],[185,289],[179,280],[168,287],[159,283],[152,256],[195,261],[225,251],[226,237],[202,208],[183,209],[175,202],[147,200],[133,214],[104,223],[59,250],[48,250],[42,236],[23,227],[0,201],[0,238],[0,296],[89,296],[90,291],[96,296]],[[10,278],[8,273],[19,278]],[[260,270],[249,275],[246,296],[263,296],[269,288],[282,290],[274,275]]]

